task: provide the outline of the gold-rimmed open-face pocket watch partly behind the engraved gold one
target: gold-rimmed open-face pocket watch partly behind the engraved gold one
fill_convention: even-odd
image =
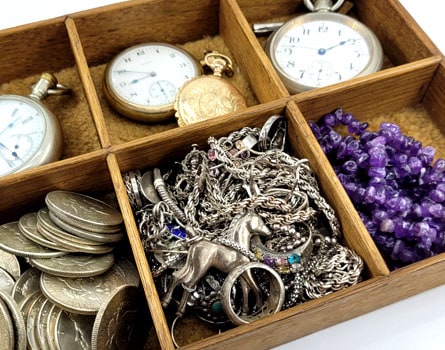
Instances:
[[[159,122],[173,116],[179,88],[201,74],[200,63],[187,51],[166,43],[145,43],[110,61],[103,90],[110,105],[122,115]]]

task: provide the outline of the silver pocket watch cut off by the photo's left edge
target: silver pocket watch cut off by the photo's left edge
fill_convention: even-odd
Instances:
[[[43,73],[29,96],[0,95],[0,176],[60,159],[62,128],[41,100],[70,91]]]

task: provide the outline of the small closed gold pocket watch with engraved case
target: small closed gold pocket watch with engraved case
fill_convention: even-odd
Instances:
[[[203,66],[213,75],[202,75],[185,83],[175,100],[176,119],[185,126],[247,108],[242,93],[223,75],[233,76],[232,60],[216,51],[207,52]]]

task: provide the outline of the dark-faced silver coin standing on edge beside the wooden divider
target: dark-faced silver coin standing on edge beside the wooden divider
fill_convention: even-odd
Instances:
[[[150,321],[144,293],[135,286],[116,289],[96,315],[93,350],[142,349]]]

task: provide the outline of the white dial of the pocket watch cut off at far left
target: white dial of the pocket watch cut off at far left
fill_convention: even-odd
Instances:
[[[0,176],[23,168],[45,139],[47,127],[41,108],[25,101],[0,97]]]

